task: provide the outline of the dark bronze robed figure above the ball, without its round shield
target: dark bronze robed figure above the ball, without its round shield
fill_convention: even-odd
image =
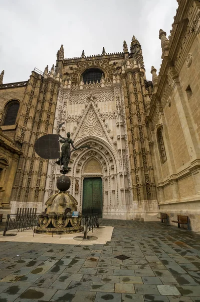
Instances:
[[[60,142],[63,142],[63,145],[61,147],[61,151],[62,151],[61,158],[56,162],[56,164],[60,166],[63,165],[65,170],[70,169],[68,165],[71,157],[71,150],[70,150],[71,145],[75,150],[77,150],[77,148],[75,148],[73,144],[73,140],[70,138],[70,132],[67,132],[67,137],[63,137],[59,133],[58,135],[62,138],[60,139]]]

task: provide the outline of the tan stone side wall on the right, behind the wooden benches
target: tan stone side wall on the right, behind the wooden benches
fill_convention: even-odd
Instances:
[[[198,6],[198,7],[196,7]],[[178,14],[184,6],[179,7]],[[159,211],[169,223],[177,214],[189,217],[189,228],[200,229],[200,23],[199,4],[188,8],[188,22],[177,25],[180,39],[169,40],[158,77],[159,96],[151,109],[153,152],[157,168]],[[176,28],[177,34],[177,28]],[[173,30],[171,33],[173,37]],[[171,38],[170,38],[171,39]],[[178,41],[178,43],[176,43]],[[174,46],[175,45],[175,46]],[[174,47],[174,48],[173,48]],[[173,54],[175,55],[173,56]],[[166,63],[165,56],[171,60]],[[173,59],[172,59],[173,58]],[[159,85],[161,89],[159,90]],[[155,88],[156,89],[156,88]],[[166,159],[160,156],[157,129],[161,128]],[[161,142],[161,147],[163,147]],[[161,152],[164,156],[164,152]]]

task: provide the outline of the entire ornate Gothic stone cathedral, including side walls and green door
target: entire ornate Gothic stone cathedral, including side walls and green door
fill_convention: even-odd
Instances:
[[[25,82],[0,75],[0,210],[44,210],[57,192],[60,167],[40,158],[35,141],[57,133],[71,138],[71,187],[79,211],[104,218],[156,220],[189,216],[200,230],[200,3],[179,0],[169,38],[159,31],[162,64],[145,75],[141,45],[130,51],[64,56],[34,69]],[[59,158],[59,155],[58,155]]]

